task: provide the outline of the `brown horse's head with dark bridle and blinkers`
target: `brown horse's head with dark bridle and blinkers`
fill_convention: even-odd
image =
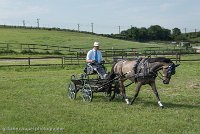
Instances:
[[[173,62],[163,66],[163,83],[169,84],[171,76],[176,73],[176,67],[180,64],[175,65]]]

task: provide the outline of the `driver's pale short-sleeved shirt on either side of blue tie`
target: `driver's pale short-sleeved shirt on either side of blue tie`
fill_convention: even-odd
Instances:
[[[97,51],[97,55],[98,55],[98,63],[100,63],[103,60],[103,57],[102,57],[101,51],[99,51],[99,50],[92,49],[92,50],[88,51],[86,60],[95,60],[95,52],[96,51]]]

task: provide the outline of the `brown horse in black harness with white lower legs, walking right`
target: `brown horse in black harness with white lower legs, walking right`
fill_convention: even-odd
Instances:
[[[108,76],[109,80],[118,79],[119,89],[126,103],[132,105],[137,98],[142,85],[149,84],[157,98],[157,102],[161,108],[164,108],[160,101],[158,91],[156,89],[155,79],[160,77],[164,84],[169,84],[171,76],[175,74],[176,67],[180,64],[175,65],[171,59],[165,57],[158,58],[139,58],[137,60],[120,60],[113,64],[111,72]],[[162,70],[162,77],[158,75]],[[131,102],[126,96],[124,82],[130,80],[132,83],[137,83],[135,94]],[[117,91],[117,90],[116,90]],[[110,98],[113,100],[114,95]]]

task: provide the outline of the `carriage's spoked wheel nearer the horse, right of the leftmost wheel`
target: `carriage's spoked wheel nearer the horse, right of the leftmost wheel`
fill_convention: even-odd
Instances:
[[[93,92],[89,84],[84,84],[82,89],[82,97],[84,101],[91,102],[93,98]]]

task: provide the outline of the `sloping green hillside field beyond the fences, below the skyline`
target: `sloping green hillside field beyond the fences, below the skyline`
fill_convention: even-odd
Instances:
[[[35,43],[81,48],[91,48],[94,41],[101,42],[102,49],[160,46],[157,44],[111,39],[85,33],[55,30],[0,28],[0,35],[0,42]]]

